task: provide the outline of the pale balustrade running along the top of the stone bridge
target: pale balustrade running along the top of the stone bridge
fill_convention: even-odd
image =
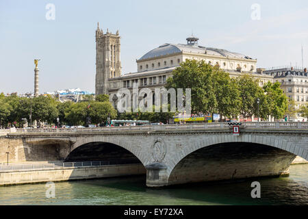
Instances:
[[[143,125],[123,127],[94,127],[70,129],[16,129],[16,133],[85,133],[103,131],[167,131],[194,129],[221,129],[229,127],[228,123],[195,123],[186,125]],[[308,129],[307,122],[242,122],[242,127],[264,129]],[[10,133],[13,133],[12,131]]]

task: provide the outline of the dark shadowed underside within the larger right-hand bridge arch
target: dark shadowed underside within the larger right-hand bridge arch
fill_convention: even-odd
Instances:
[[[252,142],[201,146],[175,163],[167,185],[288,175],[295,157],[289,151]]]

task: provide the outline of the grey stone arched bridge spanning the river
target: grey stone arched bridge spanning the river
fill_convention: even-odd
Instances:
[[[25,160],[139,162],[149,187],[287,175],[296,156],[308,159],[308,123],[243,123],[239,136],[227,123],[16,129],[1,140]]]

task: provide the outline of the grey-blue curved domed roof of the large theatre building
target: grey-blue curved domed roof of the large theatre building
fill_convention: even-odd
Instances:
[[[243,55],[240,53],[233,53],[230,51],[227,51],[225,49],[215,49],[210,47],[201,47],[198,46],[198,44],[170,44],[165,43],[162,44],[160,47],[157,47],[155,49],[152,49],[142,57],[140,57],[141,60],[146,60],[153,57],[159,57],[163,55],[170,55],[173,53],[180,53],[188,52],[188,53],[202,53],[207,55],[218,55],[218,56],[224,56],[224,57],[236,57],[236,58],[242,58],[251,60],[251,57],[248,57],[247,55]]]

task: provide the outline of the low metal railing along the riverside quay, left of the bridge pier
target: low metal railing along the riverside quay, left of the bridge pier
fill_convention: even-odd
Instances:
[[[35,170],[45,168],[68,168],[68,167],[90,167],[90,166],[108,166],[120,164],[138,164],[136,160],[120,161],[97,161],[97,162],[64,162],[53,164],[20,164],[20,165],[0,165],[0,172],[5,170]]]

